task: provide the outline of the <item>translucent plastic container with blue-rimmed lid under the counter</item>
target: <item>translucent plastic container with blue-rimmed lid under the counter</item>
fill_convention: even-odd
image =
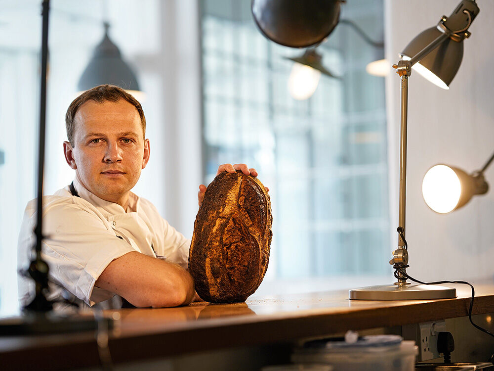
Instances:
[[[414,371],[418,347],[398,335],[359,337],[354,343],[344,339],[309,341],[294,350],[293,363],[318,363],[334,371]]]

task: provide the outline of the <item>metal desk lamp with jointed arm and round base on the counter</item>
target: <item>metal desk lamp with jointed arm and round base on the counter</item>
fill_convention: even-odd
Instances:
[[[418,35],[405,51],[413,50],[417,46],[439,31],[439,36],[430,41],[425,47],[420,47],[411,58],[400,60],[393,65],[401,76],[401,137],[400,137],[400,196],[399,196],[399,227],[398,248],[393,252],[393,259],[389,262],[395,268],[397,282],[392,285],[378,285],[357,288],[349,291],[350,299],[357,300],[427,300],[447,299],[456,297],[456,289],[439,285],[417,285],[407,282],[408,246],[405,240],[405,208],[406,208],[406,179],[407,179],[407,116],[408,116],[408,77],[412,74],[412,66],[424,60],[431,52],[435,56],[430,68],[426,67],[433,77],[448,87],[459,68],[463,48],[460,43],[470,36],[467,31],[473,19],[479,13],[479,8],[473,0],[462,0],[451,14],[450,18],[443,16],[436,29],[429,29]],[[453,31],[454,30],[454,31]],[[460,47],[461,46],[461,47]],[[458,56],[458,50],[461,54]],[[443,64],[447,58],[453,58],[453,63]],[[402,273],[403,272],[403,273]]]

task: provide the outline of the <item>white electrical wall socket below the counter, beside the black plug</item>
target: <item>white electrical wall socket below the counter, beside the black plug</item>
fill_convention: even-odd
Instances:
[[[446,331],[444,320],[402,326],[403,338],[415,340],[415,344],[418,345],[418,362],[441,357],[437,351],[437,335],[441,331]]]

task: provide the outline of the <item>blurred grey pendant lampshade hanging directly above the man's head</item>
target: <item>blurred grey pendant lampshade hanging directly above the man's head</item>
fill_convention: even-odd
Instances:
[[[122,59],[119,48],[108,37],[108,28],[108,24],[105,24],[105,36],[96,46],[82,73],[78,89],[85,91],[101,84],[112,84],[125,90],[139,91],[135,74]]]

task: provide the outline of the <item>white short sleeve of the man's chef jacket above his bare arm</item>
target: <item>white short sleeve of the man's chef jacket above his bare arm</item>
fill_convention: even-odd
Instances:
[[[44,207],[43,214],[46,237],[42,253],[50,278],[88,305],[113,296],[95,290],[98,293],[91,297],[94,283],[112,260],[134,249],[118,238],[97,213],[80,204],[55,202]],[[35,217],[36,213],[31,213],[30,219]]]

